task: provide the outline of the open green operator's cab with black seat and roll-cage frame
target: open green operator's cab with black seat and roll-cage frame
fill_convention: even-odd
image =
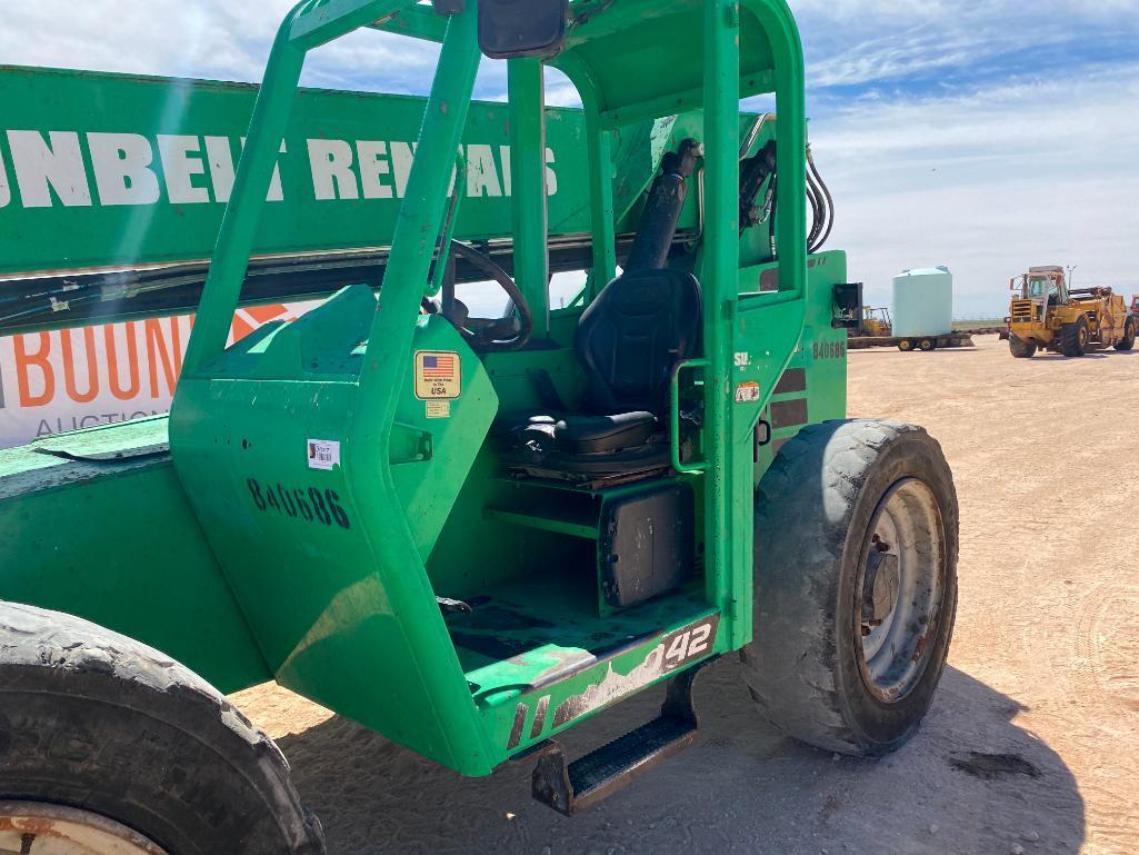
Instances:
[[[361,27],[442,44],[378,298],[345,288],[227,349],[304,57]],[[507,57],[499,234],[450,193],[482,55]],[[551,227],[546,65],[583,105],[588,234]],[[773,122],[741,115],[770,95]],[[845,409],[844,258],[812,256],[809,282],[806,173],[784,0],[302,2],[170,423],[278,682],[482,775],[748,642],[763,446]],[[552,308],[570,245],[585,285]],[[458,288],[476,280],[501,286],[505,317],[470,317]],[[829,401],[810,416],[808,377]],[[695,732],[680,701],[661,720],[638,744]],[[540,798],[558,809],[598,784],[558,795],[551,768]]]

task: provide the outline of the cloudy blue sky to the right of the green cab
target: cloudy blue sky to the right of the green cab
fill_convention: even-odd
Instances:
[[[1075,264],[1139,293],[1139,2],[793,3],[851,276],[948,264],[959,316]]]

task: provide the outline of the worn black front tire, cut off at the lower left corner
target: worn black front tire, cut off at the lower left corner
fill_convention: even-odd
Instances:
[[[85,620],[0,602],[6,800],[98,814],[169,855],[325,852],[284,755],[205,681]]]

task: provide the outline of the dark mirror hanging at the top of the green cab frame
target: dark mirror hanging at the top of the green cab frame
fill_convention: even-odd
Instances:
[[[491,59],[549,59],[566,40],[570,0],[480,0],[478,47]]]

